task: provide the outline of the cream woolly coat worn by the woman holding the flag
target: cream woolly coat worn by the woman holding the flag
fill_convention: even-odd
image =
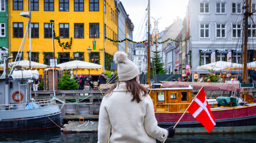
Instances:
[[[99,110],[98,143],[156,143],[163,141],[168,131],[157,125],[149,95],[131,102],[131,92],[121,82],[112,95],[104,96]],[[110,129],[112,126],[112,135]]]

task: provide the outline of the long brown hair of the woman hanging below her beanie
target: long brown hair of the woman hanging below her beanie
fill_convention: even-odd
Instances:
[[[143,87],[142,85],[140,85],[137,81],[136,81],[136,77],[129,80],[129,81],[123,81],[126,83],[126,93],[127,92],[132,92],[133,95],[133,99],[131,100],[134,101],[136,99],[137,103],[139,103],[140,101],[142,101],[140,99],[140,93],[143,93],[142,96],[147,96],[147,90],[145,87]],[[112,94],[112,91],[117,87],[117,85],[119,86],[120,81],[118,81],[113,87],[111,87],[106,93],[106,97],[110,96]]]

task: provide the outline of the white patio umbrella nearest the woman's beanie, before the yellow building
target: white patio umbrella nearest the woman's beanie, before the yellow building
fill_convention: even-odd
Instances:
[[[74,60],[58,64],[57,67],[60,67],[61,69],[101,69],[103,66],[85,61]]]

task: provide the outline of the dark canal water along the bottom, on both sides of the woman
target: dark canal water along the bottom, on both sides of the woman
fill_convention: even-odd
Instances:
[[[255,143],[256,133],[175,135],[165,143]],[[0,132],[0,143],[97,143],[97,134],[63,134],[59,129]],[[157,143],[161,143],[157,140]]]

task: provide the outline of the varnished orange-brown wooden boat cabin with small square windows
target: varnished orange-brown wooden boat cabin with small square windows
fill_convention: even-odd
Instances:
[[[148,88],[148,92],[156,106],[155,112],[180,112],[185,111],[192,102],[192,89],[192,85],[162,88],[161,84],[153,84],[151,88]]]

